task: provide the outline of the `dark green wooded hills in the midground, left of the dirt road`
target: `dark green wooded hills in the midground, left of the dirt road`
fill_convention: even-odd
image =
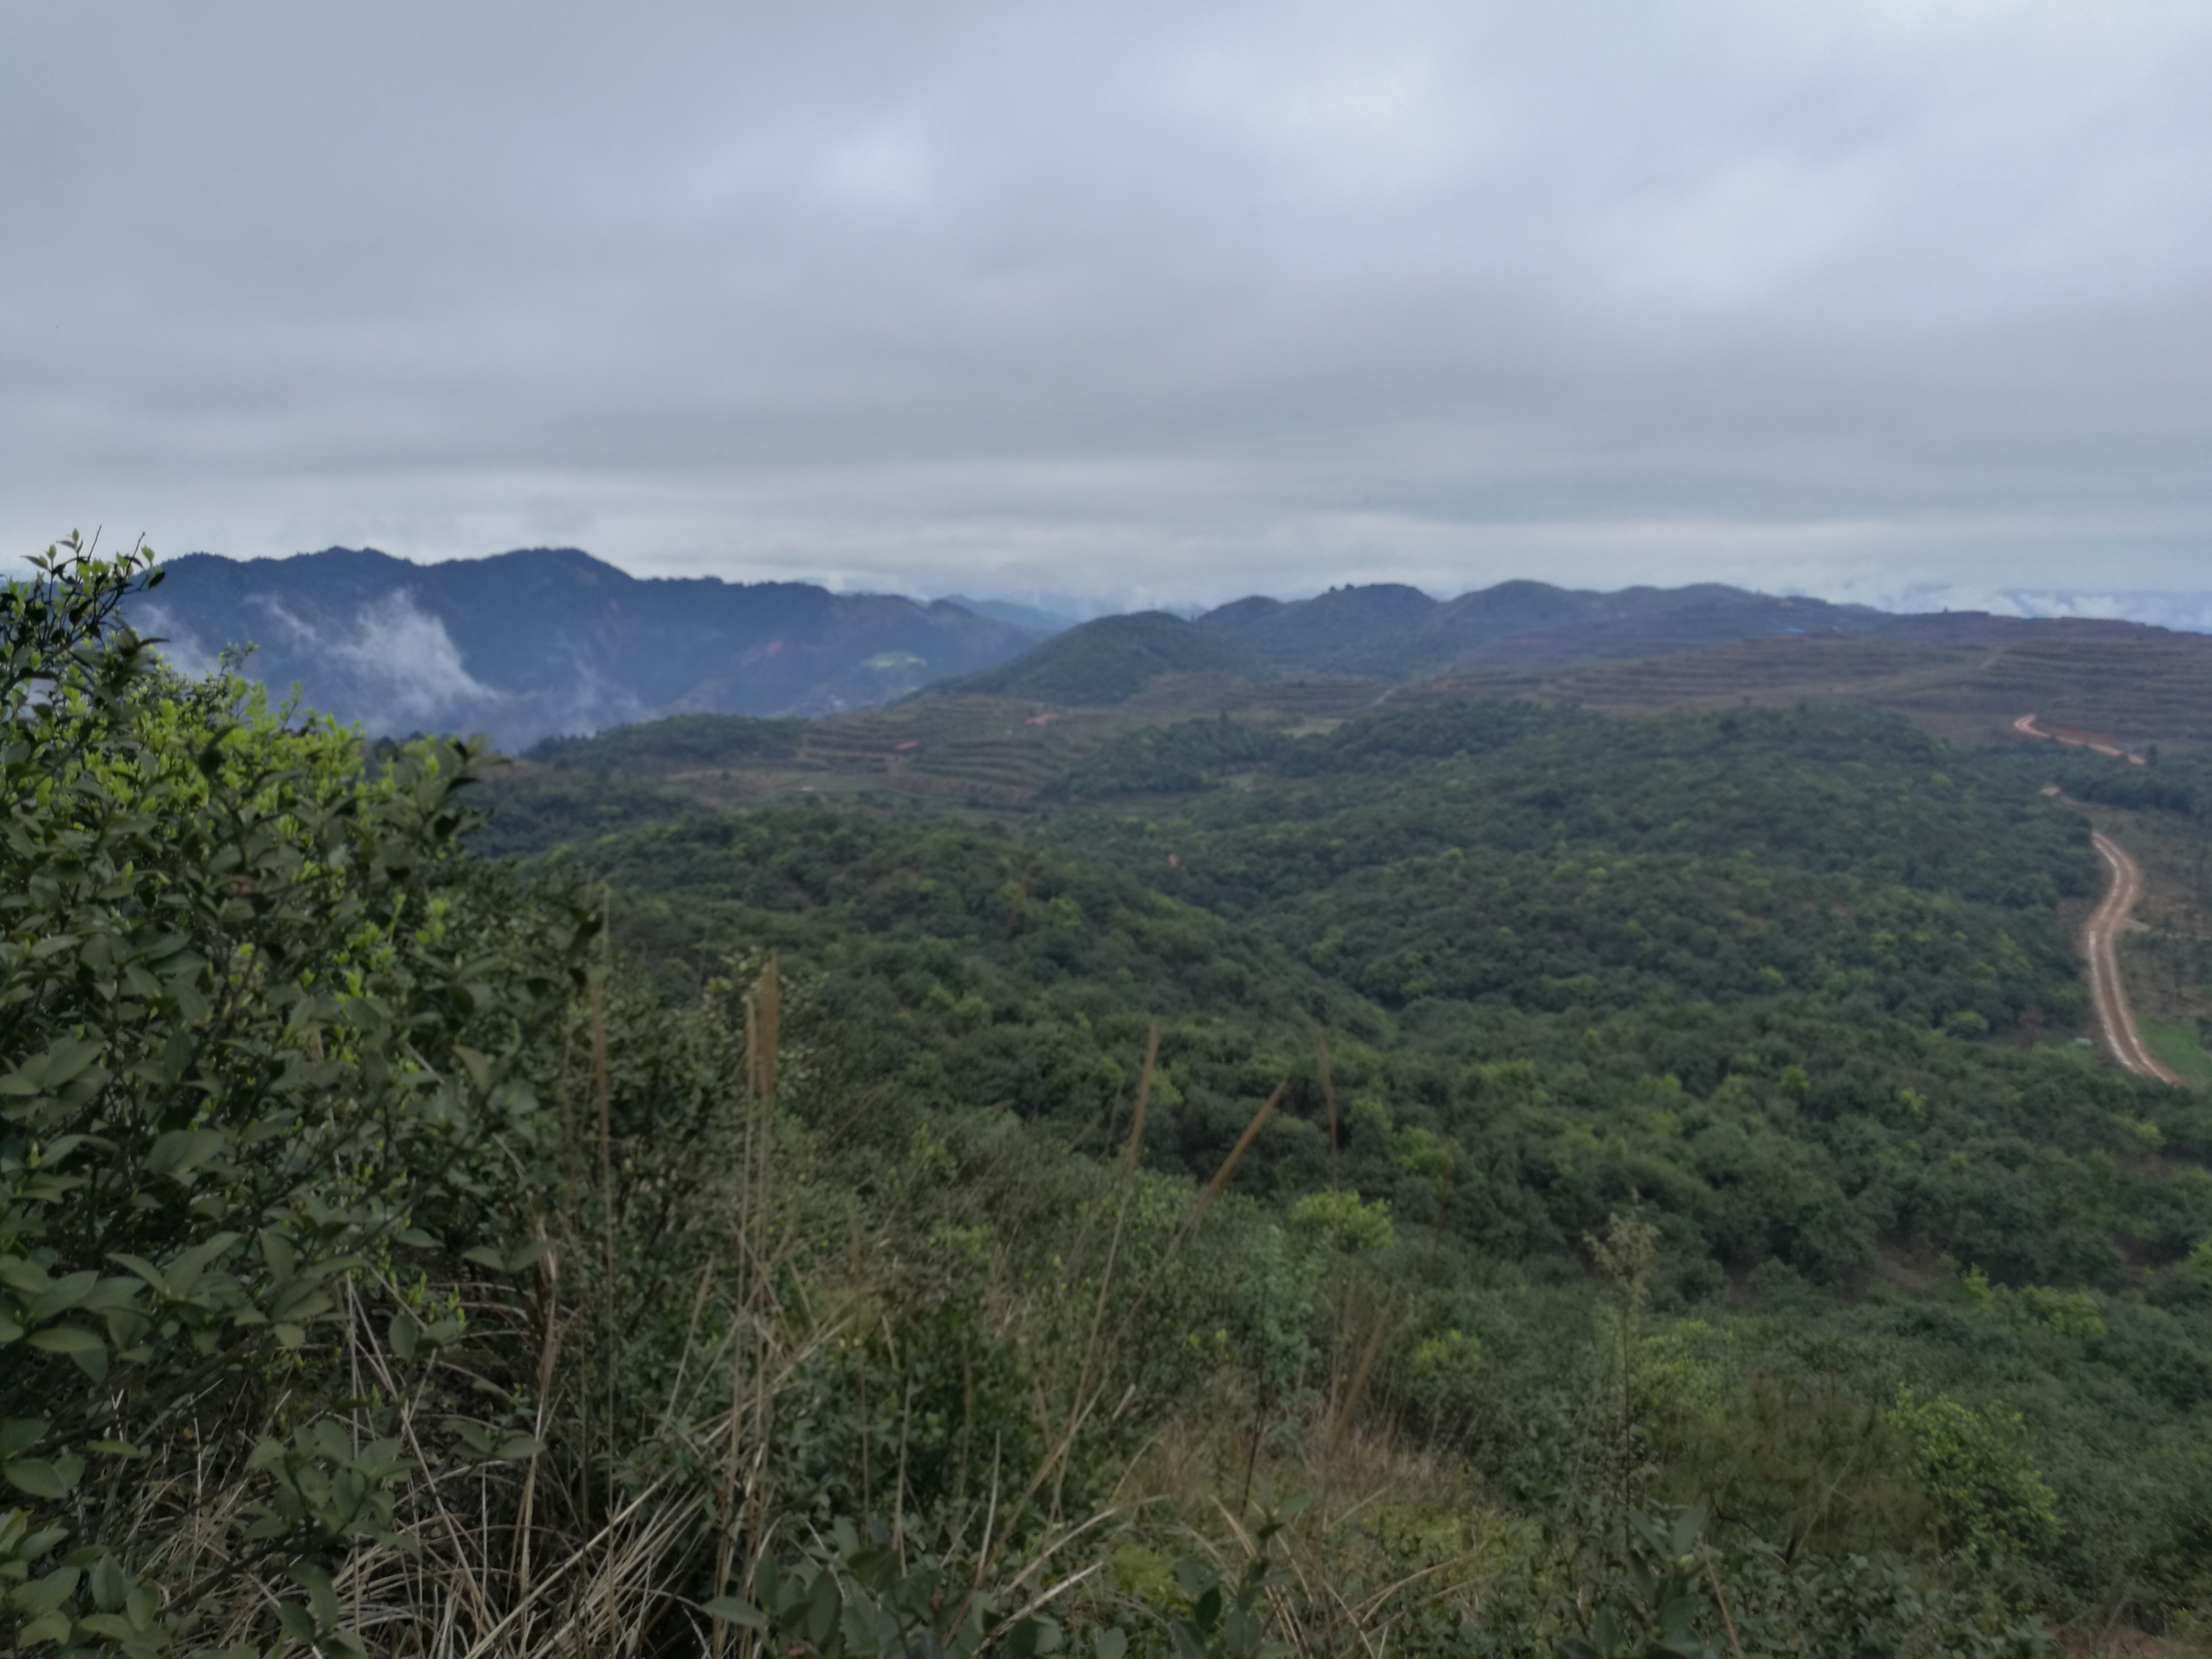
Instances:
[[[1628,1352],[1646,1502],[1801,1551],[1851,1619],[1876,1617],[1851,1559],[1880,1551],[1927,1606],[2062,1621],[2126,1579],[2148,1621],[2212,1590],[2212,1460],[2177,1453],[2212,1411],[2212,1113],[2075,1042],[2068,916],[2097,874],[2042,776],[1834,708],[1217,717],[1091,748],[1020,838],[757,812],[535,869],[608,883],[670,991],[776,951],[792,1040],[854,1102],[827,1121],[880,1166],[1018,1121],[1190,1190],[1230,1168],[1221,1261],[1250,1294],[1201,1345],[1237,1356],[1223,1442],[1267,1413],[1276,1491],[1316,1480],[1298,1458],[1325,1467],[1374,1345],[1376,1422],[1464,1458],[1491,1515],[1577,1513],[1544,1493],[1626,1444],[1584,1413],[1619,1409]],[[1022,1183],[1048,1168],[1022,1157]],[[960,1179],[1011,1179],[987,1170]],[[1615,1301],[1590,1241],[1624,1217],[1648,1259]],[[1287,1287],[1301,1225],[1365,1254]],[[1931,1462],[1944,1436],[2002,1524]],[[1809,1617],[1730,1571],[1756,1617]]]

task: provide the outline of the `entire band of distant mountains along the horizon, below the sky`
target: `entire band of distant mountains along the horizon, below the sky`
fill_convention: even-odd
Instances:
[[[372,549],[248,562],[192,553],[168,564],[133,617],[188,668],[250,644],[248,675],[279,695],[299,684],[310,708],[369,732],[489,730],[504,748],[659,714],[836,714],[925,686],[1104,706],[1161,675],[1347,677],[1383,690],[1717,650],[1732,661],[1725,648],[1739,641],[1792,637],[1951,650],[2046,635],[2068,646],[2197,644],[2084,617],[1891,615],[1717,584],[1588,593],[1544,582],[1451,599],[1398,584],[1254,595],[1188,622],[1152,611],[1055,633],[1057,617],[1006,602],[639,580],[577,549],[447,564]]]

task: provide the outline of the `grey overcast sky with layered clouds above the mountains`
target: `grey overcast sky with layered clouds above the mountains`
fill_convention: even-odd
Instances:
[[[2212,588],[2203,0],[0,0],[0,531]]]

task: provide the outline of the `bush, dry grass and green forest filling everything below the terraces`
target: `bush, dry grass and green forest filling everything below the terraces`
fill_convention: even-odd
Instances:
[[[2212,1617],[2212,1113],[2073,1042],[2004,768],[1212,721],[1020,841],[628,781],[489,863],[482,754],[168,675],[137,580],[4,602],[20,1650]]]

